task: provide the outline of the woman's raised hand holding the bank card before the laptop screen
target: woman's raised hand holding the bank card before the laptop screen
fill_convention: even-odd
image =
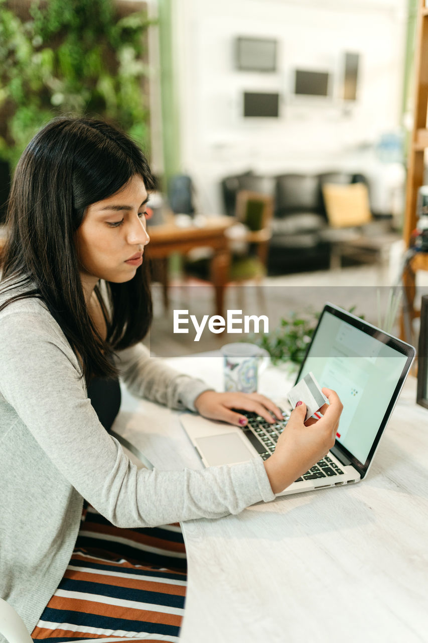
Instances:
[[[306,405],[296,406],[278,438],[274,453],[264,462],[273,493],[286,489],[334,446],[343,404],[330,388],[322,390],[328,399],[328,404],[318,412],[323,417],[319,420],[310,418],[304,424]]]

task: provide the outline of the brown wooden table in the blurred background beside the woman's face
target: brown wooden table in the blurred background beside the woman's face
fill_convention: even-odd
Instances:
[[[230,250],[224,231],[235,222],[233,217],[207,217],[204,226],[181,228],[172,219],[160,226],[148,226],[150,243],[145,252],[150,259],[159,259],[165,308],[168,308],[168,257],[172,253],[187,253],[193,248],[212,248],[210,281],[215,291],[215,314],[223,315],[224,287],[230,266]]]

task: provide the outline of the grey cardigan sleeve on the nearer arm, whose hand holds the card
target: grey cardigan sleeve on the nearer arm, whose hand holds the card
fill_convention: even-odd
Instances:
[[[203,471],[137,469],[98,421],[78,362],[49,313],[10,308],[0,319],[1,393],[28,439],[114,525],[218,518],[274,498],[260,458]]]

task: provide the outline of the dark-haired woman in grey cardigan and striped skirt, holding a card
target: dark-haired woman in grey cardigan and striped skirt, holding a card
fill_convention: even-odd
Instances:
[[[0,282],[0,595],[35,640],[175,641],[186,587],[178,521],[272,500],[334,444],[337,395],[292,412],[265,462],[138,469],[109,434],[132,394],[245,424],[263,395],[217,393],[150,358],[143,252],[154,179],[111,125],[59,118],[15,171]],[[163,525],[163,527],[162,527]]]

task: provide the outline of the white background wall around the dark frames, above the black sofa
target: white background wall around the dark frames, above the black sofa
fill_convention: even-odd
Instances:
[[[358,151],[400,121],[406,0],[174,0],[183,171],[203,212],[221,212],[218,181],[252,168],[273,174],[364,170]],[[276,38],[278,71],[234,69],[236,36]],[[361,54],[357,102],[338,96],[341,54]],[[293,99],[296,67],[328,69],[334,99]],[[280,118],[245,118],[244,90],[280,91]]]

